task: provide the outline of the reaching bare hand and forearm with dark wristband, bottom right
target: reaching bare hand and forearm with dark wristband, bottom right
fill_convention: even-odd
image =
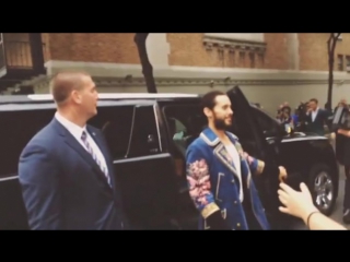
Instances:
[[[280,212],[301,218],[311,230],[347,230],[318,211],[305,183],[301,183],[300,189],[299,192],[287,183],[280,184],[278,195],[283,204],[279,207]]]

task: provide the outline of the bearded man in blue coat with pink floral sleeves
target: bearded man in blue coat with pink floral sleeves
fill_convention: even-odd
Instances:
[[[189,194],[201,214],[199,229],[270,229],[252,174],[282,180],[285,169],[249,156],[226,131],[233,116],[226,94],[206,94],[202,107],[208,127],[186,152]]]

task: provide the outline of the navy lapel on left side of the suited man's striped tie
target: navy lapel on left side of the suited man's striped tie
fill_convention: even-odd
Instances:
[[[91,154],[77,141],[77,139],[56,119],[52,120],[56,129],[58,130],[59,134],[63,138],[65,143],[70,146],[72,150],[74,150],[86,162],[88,165],[92,167],[92,169],[97,175],[98,179],[103,181],[105,186],[107,186],[110,189],[110,186],[107,182],[107,179],[103,171],[101,170],[97,163],[93,159]],[[100,146],[100,144],[96,142],[96,144]],[[107,162],[107,159],[106,159]],[[108,164],[108,162],[107,162]],[[109,167],[108,167],[109,169]]]

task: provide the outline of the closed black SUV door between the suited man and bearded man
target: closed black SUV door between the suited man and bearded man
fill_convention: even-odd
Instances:
[[[138,229],[171,228],[176,211],[173,159],[155,112],[155,103],[119,106],[104,129],[126,214]]]

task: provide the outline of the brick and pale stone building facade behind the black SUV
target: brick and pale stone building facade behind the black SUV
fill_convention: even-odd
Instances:
[[[2,35],[3,39],[20,40],[27,34]],[[90,72],[100,92],[147,92],[133,35],[42,33],[46,72],[21,84],[33,85],[35,93],[48,93],[51,74],[74,69]],[[329,33],[164,33],[150,34],[147,49],[159,92],[205,93],[240,85],[249,100],[272,112],[284,100],[296,106],[315,97],[325,104],[328,37]],[[5,52],[7,57],[31,56],[14,47]],[[336,48],[334,103],[350,96],[347,69],[350,34],[341,34]]]

